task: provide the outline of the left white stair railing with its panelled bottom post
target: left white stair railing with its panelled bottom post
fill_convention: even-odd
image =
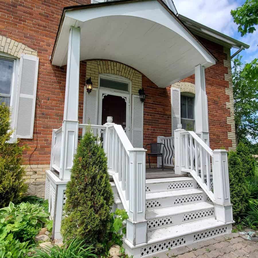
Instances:
[[[128,212],[126,239],[133,245],[146,242],[144,148],[133,148],[121,125],[106,123],[105,152],[121,202]]]

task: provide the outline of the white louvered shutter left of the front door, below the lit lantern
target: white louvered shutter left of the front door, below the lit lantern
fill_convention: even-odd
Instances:
[[[92,88],[88,93],[84,88],[83,124],[97,124],[98,89]]]

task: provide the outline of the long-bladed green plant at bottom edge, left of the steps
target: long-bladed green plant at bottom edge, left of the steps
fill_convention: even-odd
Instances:
[[[85,244],[86,240],[80,240],[79,238],[71,239],[64,243],[64,247],[54,245],[51,249],[37,250],[35,258],[86,258],[94,257],[95,248],[92,245]],[[66,247],[66,248],[65,248]]]

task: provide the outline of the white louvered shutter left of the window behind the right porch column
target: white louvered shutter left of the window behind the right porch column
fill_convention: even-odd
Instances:
[[[172,136],[177,129],[177,125],[181,124],[180,114],[180,89],[171,87],[171,119],[172,119]]]

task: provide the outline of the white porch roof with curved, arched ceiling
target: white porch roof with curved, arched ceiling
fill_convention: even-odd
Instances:
[[[52,64],[67,64],[70,27],[81,27],[80,60],[127,64],[159,87],[205,68],[215,58],[159,0],[119,1],[64,9]]]

